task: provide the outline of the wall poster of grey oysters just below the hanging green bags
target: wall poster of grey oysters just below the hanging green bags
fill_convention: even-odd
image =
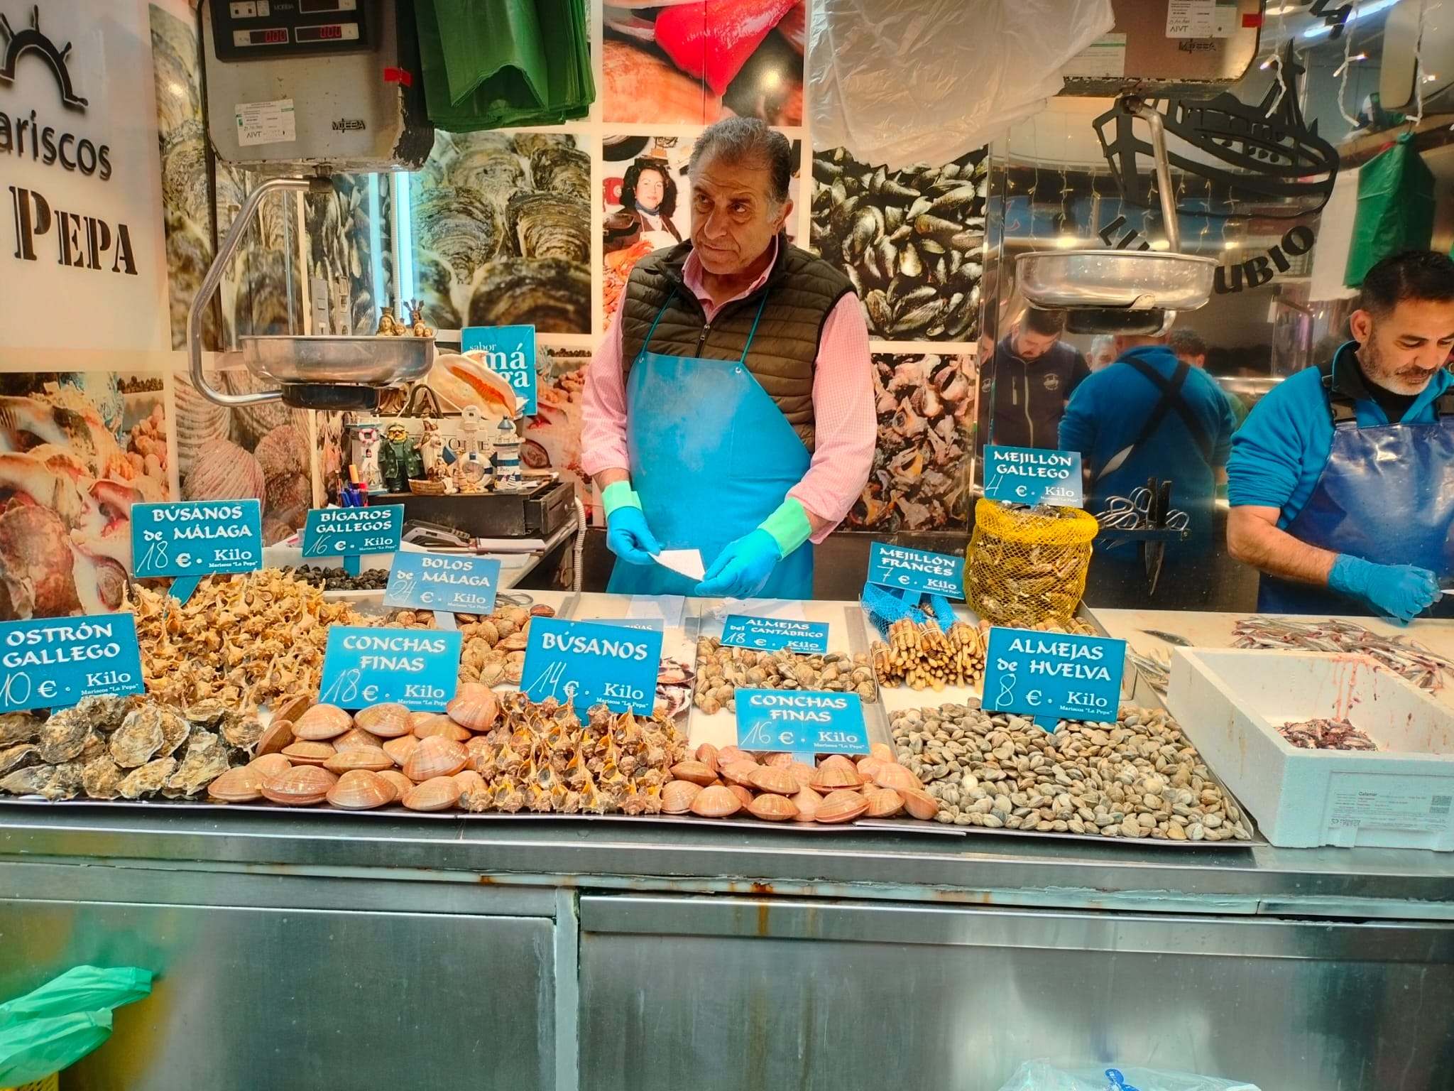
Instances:
[[[409,176],[425,321],[590,333],[589,192],[573,135],[436,132]]]

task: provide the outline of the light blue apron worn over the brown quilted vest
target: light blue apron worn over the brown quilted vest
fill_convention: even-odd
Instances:
[[[648,352],[663,304],[627,380],[631,487],[647,527],[663,548],[701,550],[707,567],[727,543],[772,515],[813,461],[746,367],[766,303],[763,292],[737,361]],[[606,585],[616,595],[691,595],[695,588],[660,564],[621,560]],[[779,562],[760,594],[813,598],[813,547]]]

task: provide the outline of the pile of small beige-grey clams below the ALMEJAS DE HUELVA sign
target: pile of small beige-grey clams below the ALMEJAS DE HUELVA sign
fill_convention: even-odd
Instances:
[[[1115,723],[944,704],[893,717],[897,756],[957,826],[1157,841],[1246,841],[1242,810],[1165,711],[1121,708]]]

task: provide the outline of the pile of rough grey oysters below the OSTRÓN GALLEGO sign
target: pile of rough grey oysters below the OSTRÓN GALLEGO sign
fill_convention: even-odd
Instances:
[[[142,697],[87,697],[49,719],[0,716],[0,793],[48,800],[188,799],[262,736],[256,710],[222,701],[173,708]]]

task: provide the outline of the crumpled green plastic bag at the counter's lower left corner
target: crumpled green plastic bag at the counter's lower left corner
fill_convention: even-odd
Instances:
[[[45,1079],[111,1037],[111,1010],[151,994],[151,970],[76,966],[0,1004],[0,1087]]]

